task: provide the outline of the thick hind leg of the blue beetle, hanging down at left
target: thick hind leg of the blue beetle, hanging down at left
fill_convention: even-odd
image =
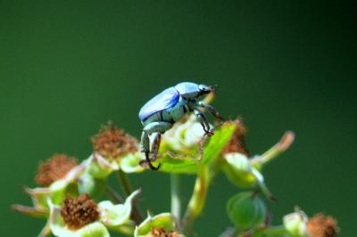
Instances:
[[[165,132],[166,130],[169,130],[170,127],[172,127],[171,123],[168,122],[153,122],[148,125],[146,125],[143,129],[143,133],[141,135],[141,145],[142,145],[142,151],[145,152],[145,163],[148,164],[148,166],[153,169],[157,170],[160,168],[160,164],[157,168],[153,166],[151,163],[156,159],[157,151],[159,150],[160,147],[160,140],[158,140],[156,137],[154,139],[153,147],[154,147],[154,159],[150,159],[149,153],[150,153],[150,139],[149,135],[152,135],[154,133],[158,133],[159,135]],[[143,162],[140,162],[140,164],[143,164]]]

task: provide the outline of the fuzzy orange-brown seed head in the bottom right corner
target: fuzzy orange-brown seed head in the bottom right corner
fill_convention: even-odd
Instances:
[[[311,237],[336,237],[339,231],[336,219],[323,214],[310,218],[307,229]]]

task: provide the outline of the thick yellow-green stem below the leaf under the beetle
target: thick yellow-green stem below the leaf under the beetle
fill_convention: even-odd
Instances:
[[[208,186],[208,168],[202,166],[198,170],[197,177],[195,179],[194,192],[192,193],[191,200],[188,202],[185,217],[182,220],[182,229],[184,233],[187,233],[190,226],[195,221],[195,218],[201,214],[207,198]]]

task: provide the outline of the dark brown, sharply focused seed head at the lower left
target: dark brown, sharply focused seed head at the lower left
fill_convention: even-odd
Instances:
[[[85,193],[78,198],[66,197],[61,216],[69,229],[78,230],[95,222],[99,218],[99,211],[95,200],[89,199],[89,195]]]

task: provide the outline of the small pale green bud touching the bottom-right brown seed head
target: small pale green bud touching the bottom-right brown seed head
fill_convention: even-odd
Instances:
[[[299,208],[295,208],[295,212],[283,217],[283,223],[286,232],[291,237],[309,237],[307,232],[308,217]]]

